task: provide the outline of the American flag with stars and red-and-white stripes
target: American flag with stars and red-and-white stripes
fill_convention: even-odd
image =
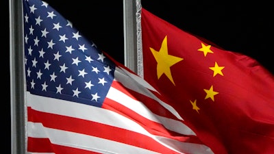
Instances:
[[[212,153],[176,110],[45,1],[23,0],[28,153]]]

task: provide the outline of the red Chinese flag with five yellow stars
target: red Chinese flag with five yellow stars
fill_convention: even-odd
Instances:
[[[201,142],[218,154],[274,153],[273,74],[144,8],[141,31],[144,79]]]

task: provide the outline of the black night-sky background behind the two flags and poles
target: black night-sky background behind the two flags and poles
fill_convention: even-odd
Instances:
[[[1,10],[5,11],[8,25],[8,1]],[[99,49],[106,51],[115,60],[123,63],[123,0],[119,1],[64,1],[47,0],[55,10],[86,36],[97,44]],[[163,18],[165,21],[214,42],[223,49],[249,55],[258,60],[274,74],[273,65],[273,9],[271,2],[256,1],[236,3],[232,1],[160,1],[143,0],[142,7]],[[10,51],[9,27],[3,29],[1,45],[1,66],[3,75],[1,86],[4,99],[2,101],[2,117],[5,125],[3,147],[10,150]],[[5,36],[5,35],[4,35]],[[7,89],[6,89],[7,87]],[[7,132],[7,133],[6,133]],[[2,142],[2,143],[3,143]]]

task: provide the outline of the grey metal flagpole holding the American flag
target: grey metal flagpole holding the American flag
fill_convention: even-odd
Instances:
[[[11,151],[12,154],[25,154],[23,5],[21,0],[9,3]]]

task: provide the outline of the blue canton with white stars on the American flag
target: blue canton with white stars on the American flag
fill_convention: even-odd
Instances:
[[[27,90],[101,106],[114,64],[47,3],[29,1],[25,6]]]

